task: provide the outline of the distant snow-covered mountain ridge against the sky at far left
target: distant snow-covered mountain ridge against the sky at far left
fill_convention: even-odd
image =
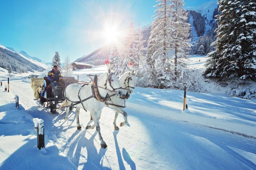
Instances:
[[[36,58],[36,57],[31,57],[30,55],[28,55],[25,51],[17,51],[12,47],[6,47],[8,48],[10,51],[15,52],[16,54],[19,54],[20,56],[22,56],[23,58],[25,58],[26,60],[29,60],[31,63],[36,64],[37,66],[43,67],[43,68],[49,68],[50,66],[47,65],[45,62],[43,62],[42,60]]]

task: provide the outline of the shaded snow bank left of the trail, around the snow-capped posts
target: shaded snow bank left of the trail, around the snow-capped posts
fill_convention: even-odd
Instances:
[[[40,127],[43,120],[33,119],[21,103],[19,110],[16,110],[14,95],[1,92],[3,90],[0,86],[0,169],[75,170],[74,164],[53,141],[45,138],[47,152],[44,149],[38,150],[33,125]],[[24,99],[24,96],[20,97]]]

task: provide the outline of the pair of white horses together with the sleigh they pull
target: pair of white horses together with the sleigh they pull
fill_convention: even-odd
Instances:
[[[123,114],[125,117],[124,122],[121,122],[120,126],[128,124],[127,113],[121,108],[125,107],[123,106],[123,104],[125,105],[125,99],[129,97],[129,94],[133,93],[137,74],[137,71],[132,70],[131,67],[130,69],[132,71],[125,72],[120,79],[118,79],[116,76],[117,69],[115,72],[112,72],[109,63],[109,60],[105,60],[105,64],[108,68],[107,72],[103,73],[99,77],[94,75],[94,79],[90,77],[92,75],[88,75],[91,79],[91,83],[83,82],[82,86],[75,84],[78,82],[73,77],[64,77],[65,81],[63,80],[61,86],[54,87],[54,91],[52,93],[50,82],[48,81],[48,78],[45,77],[43,79],[44,84],[42,84],[41,87],[33,87],[33,89],[36,88],[36,92],[38,91],[40,93],[40,96],[38,95],[37,98],[40,104],[46,108],[50,108],[50,112],[55,113],[57,103],[62,102],[58,110],[65,107],[65,120],[68,120],[69,112],[73,110],[74,106],[76,106],[76,124],[78,130],[82,128],[79,123],[80,108],[90,110],[90,115],[94,124],[92,126],[86,126],[86,129],[94,129],[94,127],[96,127],[102,148],[107,147],[105,141],[103,141],[99,127],[99,118],[101,116],[102,109],[104,106],[108,106],[116,111],[113,122],[115,130],[119,129],[116,125],[118,113]],[[129,64],[129,66],[132,66],[132,64]],[[33,85],[35,84],[36,83],[33,82]]]

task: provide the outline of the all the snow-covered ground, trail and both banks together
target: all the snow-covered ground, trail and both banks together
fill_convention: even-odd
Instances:
[[[190,60],[203,69],[205,58]],[[105,71],[98,66],[73,74],[86,80]],[[188,110],[182,112],[183,91],[136,87],[124,109],[129,126],[115,131],[114,111],[103,108],[100,126],[108,147],[101,149],[97,131],[85,129],[90,112],[81,110],[82,130],[76,130],[75,112],[64,121],[64,111],[39,108],[24,77],[10,79],[10,93],[0,87],[0,169],[256,169],[255,100],[187,92]],[[37,150],[33,118],[44,119],[46,150]]]

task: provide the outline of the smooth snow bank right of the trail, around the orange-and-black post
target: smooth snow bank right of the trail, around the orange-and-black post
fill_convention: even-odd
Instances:
[[[181,120],[256,137],[256,101],[226,94],[187,91],[188,110],[183,110],[184,91],[136,87],[126,106],[131,110],[166,119]]]

